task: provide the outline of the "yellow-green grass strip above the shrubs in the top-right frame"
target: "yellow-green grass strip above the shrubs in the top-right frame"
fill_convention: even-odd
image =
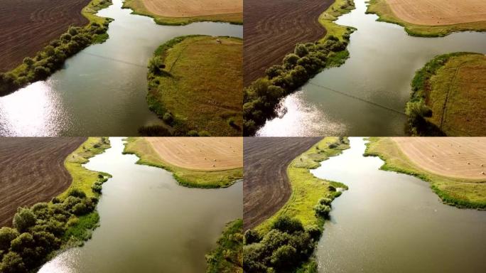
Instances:
[[[335,36],[344,41],[343,36],[345,33],[351,34],[356,28],[350,26],[341,26],[335,23],[338,17],[350,13],[355,9],[355,3],[353,0],[336,0],[328,9],[326,9],[323,14],[319,16],[319,23],[325,28],[325,36],[320,40],[320,42],[325,42],[329,36]]]

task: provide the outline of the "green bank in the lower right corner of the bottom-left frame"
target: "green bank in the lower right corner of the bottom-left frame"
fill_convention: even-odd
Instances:
[[[206,255],[207,273],[243,272],[243,220],[228,223],[217,247]]]

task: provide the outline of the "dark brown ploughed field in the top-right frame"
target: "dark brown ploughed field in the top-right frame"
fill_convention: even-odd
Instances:
[[[318,18],[333,0],[244,1],[244,86],[280,64],[296,43],[325,36]]]

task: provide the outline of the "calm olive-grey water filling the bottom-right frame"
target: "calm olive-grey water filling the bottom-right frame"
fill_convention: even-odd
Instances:
[[[365,141],[312,171],[349,186],[333,201],[319,272],[486,272],[486,212],[444,205],[429,184],[380,171]]]

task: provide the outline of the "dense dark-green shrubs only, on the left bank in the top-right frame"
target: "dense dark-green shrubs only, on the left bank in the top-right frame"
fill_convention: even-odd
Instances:
[[[244,135],[253,135],[267,118],[274,117],[279,100],[325,68],[328,58],[335,58],[345,50],[347,38],[340,41],[337,37],[329,36],[324,43],[299,43],[293,53],[285,56],[282,65],[271,66],[266,70],[265,78],[245,88]],[[342,56],[346,58],[347,54]]]

